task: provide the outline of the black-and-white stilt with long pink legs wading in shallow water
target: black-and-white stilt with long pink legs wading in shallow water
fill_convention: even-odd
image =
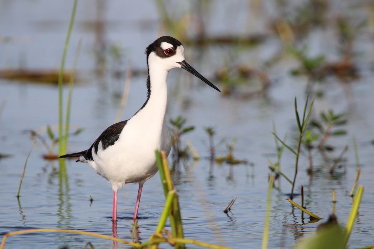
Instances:
[[[117,220],[117,191],[126,183],[139,183],[134,219],[145,181],[156,174],[155,150],[169,155],[171,137],[165,120],[168,90],[166,78],[173,68],[186,69],[206,84],[220,91],[184,60],[184,47],[170,36],[158,38],[145,50],[147,54],[148,97],[131,119],[108,127],[88,150],[67,154],[77,157],[107,179],[113,188],[113,220]]]

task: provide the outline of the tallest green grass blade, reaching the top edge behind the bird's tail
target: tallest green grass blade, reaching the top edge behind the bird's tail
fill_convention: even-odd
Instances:
[[[61,67],[60,67],[60,73],[58,77],[58,146],[59,146],[59,155],[64,154],[64,148],[62,144],[62,80],[64,76],[64,68],[65,68],[65,59],[66,59],[66,54],[68,50],[68,45],[70,41],[70,35],[71,35],[71,30],[73,29],[73,24],[74,24],[74,18],[75,18],[75,13],[77,9],[77,3],[78,0],[74,0],[74,6],[73,6],[73,12],[71,13],[71,18],[70,18],[70,24],[69,24],[69,29],[68,29],[68,34],[65,40],[65,46],[64,46],[64,52],[62,53],[62,60],[61,60]]]

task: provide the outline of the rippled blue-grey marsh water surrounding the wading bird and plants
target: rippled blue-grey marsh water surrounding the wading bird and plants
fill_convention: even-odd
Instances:
[[[338,61],[341,58],[337,49],[340,41],[331,20],[343,16],[358,26],[370,19],[372,13],[367,11],[366,5],[351,6],[349,1],[346,2],[331,1],[326,27],[309,29],[300,42],[308,47],[308,55],[323,54],[328,62]],[[195,10],[190,4],[170,1],[166,6],[170,7],[168,12],[172,17],[178,13],[189,20],[188,11]],[[297,9],[298,4],[302,6],[303,2],[289,8]],[[58,70],[72,6],[73,1],[0,1],[0,68]],[[358,78],[342,81],[329,75],[323,81],[311,83],[307,76],[291,75],[290,71],[300,65],[292,56],[279,56],[272,65],[266,64],[282,54],[284,45],[278,33],[269,28],[270,22],[281,16],[277,4],[217,1],[210,3],[208,9],[203,15],[207,37],[254,35],[263,38],[255,46],[215,43],[198,47],[186,44],[186,61],[219,88],[225,86],[215,78],[218,69],[240,63],[266,72],[270,85],[263,93],[254,95],[245,93],[256,87],[236,85],[236,90],[222,96],[184,70],[174,69],[169,73],[167,116],[183,116],[187,125],[195,127],[182,136],[182,144],[188,138],[200,155],[198,161],[181,160],[172,175],[179,195],[185,237],[232,248],[260,248],[270,174],[267,159],[277,161],[273,123],[279,137],[287,134],[287,143],[295,148],[298,128],[294,98],[297,97],[298,110],[302,112],[309,89],[311,99],[315,98],[311,118],[320,119],[320,113],[329,110],[344,113],[347,123],[338,128],[344,129],[346,135],[327,139],[333,150],[326,151],[325,157],[313,150],[312,174],[307,174],[307,156],[300,157],[295,193],[299,194],[303,186],[307,209],[324,220],[314,221],[305,214],[302,216],[301,211],[286,200],[291,185],[284,178],[276,180],[272,192],[269,248],[292,248],[299,240],[314,234],[318,225],[333,211],[344,227],[352,206],[349,194],[356,177],[353,137],[357,141],[361,168],[359,184],[365,190],[349,248],[373,245],[374,48],[370,25],[360,26],[355,33],[353,62],[358,68]],[[98,25],[98,19],[104,28]],[[66,68],[72,68],[76,47],[82,38],[70,123],[72,131],[84,130],[69,138],[68,152],[87,149],[106,127],[113,124],[120,109],[129,67],[134,74],[122,119],[130,118],[142,106],[146,99],[147,77],[144,49],[161,35],[174,35],[162,28],[161,19],[155,1],[141,1],[136,6],[127,1],[79,1]],[[100,32],[98,27],[102,28]],[[194,37],[193,27],[190,29],[187,29],[187,37]],[[104,49],[100,44],[104,44]],[[121,53],[113,52],[116,49]],[[104,57],[106,69],[103,74],[97,70],[102,66],[100,56]],[[65,103],[67,91],[64,86]],[[74,160],[66,161],[67,176],[59,177],[58,161],[43,159],[46,148],[40,140],[30,136],[30,130],[38,131],[50,143],[46,126],[53,128],[58,124],[57,85],[1,78],[0,102],[4,103],[0,117],[0,154],[9,155],[0,158],[0,234],[30,228],[67,228],[112,236],[112,191],[107,181],[88,165]],[[236,140],[234,158],[247,163],[212,164],[209,139],[204,131],[204,127],[209,126],[215,130],[217,155],[226,156],[229,152],[227,144]],[[56,130],[53,132],[57,134]],[[25,159],[34,140],[38,141],[28,158],[17,199]],[[331,165],[346,145],[347,152],[330,174]],[[57,150],[55,148],[54,152]],[[303,150],[306,152],[306,147]],[[169,163],[173,164],[171,158]],[[293,178],[295,156],[286,149],[281,167],[285,175]],[[126,184],[119,191],[117,236],[120,239],[131,240],[137,188],[136,184]],[[334,210],[332,189],[335,189],[337,199]],[[224,209],[235,198],[236,202],[225,214]],[[301,203],[299,195],[294,200]],[[141,242],[153,234],[163,204],[160,177],[156,174],[143,188],[138,214]],[[169,225],[166,228],[170,230]],[[83,248],[88,241],[95,248],[113,246],[111,241],[96,237],[40,233],[9,237],[5,248]],[[117,247],[131,248],[122,244]],[[163,245],[163,248],[167,247]]]

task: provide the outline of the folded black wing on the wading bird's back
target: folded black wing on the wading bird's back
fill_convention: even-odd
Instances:
[[[101,141],[102,147],[105,150],[107,147],[113,145],[119,138],[123,127],[125,127],[128,120],[118,122],[110,127],[106,128],[105,131],[96,139],[96,141],[91,145],[91,147],[84,154],[85,159],[93,160],[92,158],[92,148],[95,148],[95,153],[99,148],[99,142]]]

